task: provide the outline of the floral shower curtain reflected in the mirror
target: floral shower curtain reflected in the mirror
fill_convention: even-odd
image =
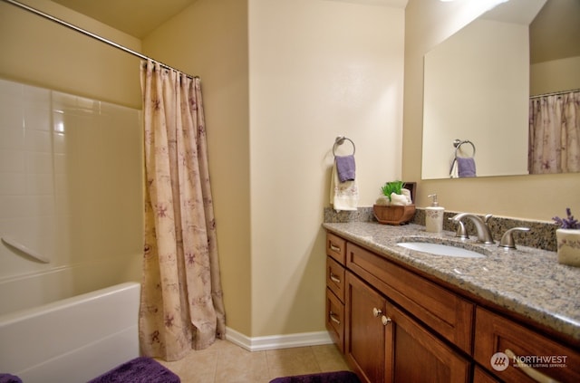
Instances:
[[[580,171],[580,91],[529,101],[530,174]]]

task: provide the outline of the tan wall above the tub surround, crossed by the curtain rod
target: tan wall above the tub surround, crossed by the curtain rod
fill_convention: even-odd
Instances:
[[[140,41],[47,0],[25,4],[133,50]],[[0,3],[0,75],[57,91],[140,108],[139,59],[62,25]]]

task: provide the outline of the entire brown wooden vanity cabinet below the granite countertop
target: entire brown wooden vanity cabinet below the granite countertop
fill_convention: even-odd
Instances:
[[[577,342],[332,233],[326,254],[326,326],[363,382],[580,382]],[[495,369],[507,349],[566,366]]]

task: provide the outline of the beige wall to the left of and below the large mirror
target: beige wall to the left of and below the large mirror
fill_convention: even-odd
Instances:
[[[410,0],[405,12],[405,92],[402,174],[420,181],[423,56],[463,24],[481,13],[475,0],[441,3]],[[478,9],[479,7],[479,9]],[[427,206],[427,195],[437,193],[448,210],[491,213],[549,221],[566,206],[580,209],[578,174],[479,177],[420,181],[418,206]]]

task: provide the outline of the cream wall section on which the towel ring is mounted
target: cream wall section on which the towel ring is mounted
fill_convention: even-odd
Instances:
[[[249,1],[253,336],[324,330],[335,137],[360,206],[401,177],[404,10],[354,3]]]

